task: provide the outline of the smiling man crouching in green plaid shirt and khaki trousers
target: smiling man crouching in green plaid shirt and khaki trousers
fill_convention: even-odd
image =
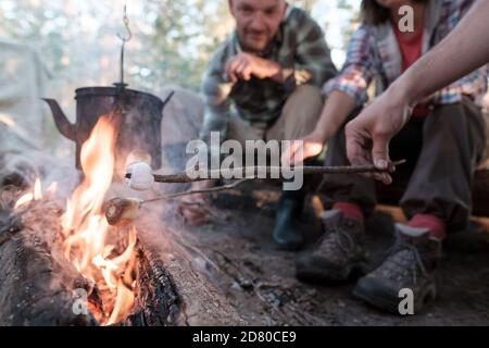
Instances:
[[[204,74],[206,111],[200,133],[234,139],[289,140],[311,133],[323,108],[321,87],[335,76],[329,49],[319,26],[285,0],[229,0],[236,30],[214,53]],[[244,161],[243,161],[244,163]],[[213,186],[201,182],[193,188]],[[298,219],[304,189],[284,191],[274,240],[284,249],[303,244]],[[181,206],[191,223],[205,223],[204,197]]]

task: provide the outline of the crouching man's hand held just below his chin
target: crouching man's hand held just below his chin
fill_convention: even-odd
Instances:
[[[281,67],[273,61],[240,52],[227,61],[226,75],[231,83],[236,83],[238,79],[250,80],[251,76],[260,79],[272,78],[281,75]]]

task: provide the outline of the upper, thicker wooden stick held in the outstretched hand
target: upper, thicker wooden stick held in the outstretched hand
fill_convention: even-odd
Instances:
[[[391,166],[398,166],[405,162],[405,160],[392,162]],[[233,170],[211,170],[205,173],[204,176],[200,176],[197,178],[191,178],[187,173],[178,173],[178,174],[167,174],[167,175],[156,175],[154,174],[154,182],[156,183],[166,183],[166,184],[185,184],[192,182],[201,182],[210,178],[222,178],[229,177],[231,175],[241,174],[242,177],[251,178],[250,172],[255,176],[256,173],[266,174],[268,177],[271,173],[279,173],[281,174],[281,166],[244,166],[237,167]],[[346,165],[346,166],[296,166],[287,170],[293,171],[302,171],[304,175],[313,175],[313,174],[362,174],[362,173],[381,173],[386,172],[377,169],[375,165],[366,164],[366,165]],[[127,173],[126,178],[130,178],[130,173]],[[280,177],[281,178],[281,177]]]

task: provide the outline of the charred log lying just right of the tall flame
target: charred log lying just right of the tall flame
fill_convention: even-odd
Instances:
[[[143,300],[147,324],[244,325],[212,282],[210,270],[216,265],[196,247],[198,240],[185,226],[175,221],[163,225],[164,210],[147,211],[136,224],[146,260],[139,276],[148,279],[142,282],[148,290],[139,293],[137,302]]]

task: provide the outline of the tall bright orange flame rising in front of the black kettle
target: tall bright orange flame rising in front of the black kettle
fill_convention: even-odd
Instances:
[[[103,215],[104,196],[115,165],[116,126],[111,115],[99,119],[80,153],[85,178],[66,203],[62,216],[64,254],[102,293],[100,323],[110,325],[127,316],[134,304],[136,229],[129,232],[125,251],[114,256],[109,245],[109,224]]]

